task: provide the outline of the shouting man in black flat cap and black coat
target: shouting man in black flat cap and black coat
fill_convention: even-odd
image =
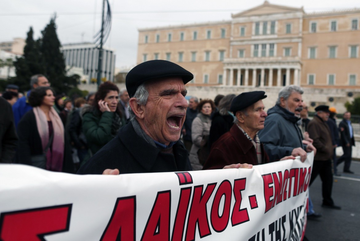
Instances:
[[[78,173],[192,170],[188,151],[179,141],[188,107],[185,84],[192,79],[192,73],[166,60],[150,60],[131,69],[126,76],[131,123],[122,127]]]

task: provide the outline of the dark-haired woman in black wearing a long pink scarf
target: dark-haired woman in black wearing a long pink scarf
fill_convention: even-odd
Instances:
[[[33,165],[32,157],[46,150],[46,170],[73,172],[71,157],[66,153],[64,126],[53,108],[55,96],[50,87],[33,89],[29,96],[33,107],[18,124],[18,163]],[[66,160],[66,162],[64,162]]]

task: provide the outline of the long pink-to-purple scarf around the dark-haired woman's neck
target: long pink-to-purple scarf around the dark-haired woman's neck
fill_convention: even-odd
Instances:
[[[37,131],[41,138],[42,150],[45,150],[46,145],[48,145],[49,142],[48,120],[40,107],[34,107],[33,112],[35,114]],[[50,109],[49,117],[53,124],[54,139],[53,144],[51,145],[51,151],[49,148],[46,153],[46,170],[61,172],[64,163],[64,126],[58,113],[53,107]]]

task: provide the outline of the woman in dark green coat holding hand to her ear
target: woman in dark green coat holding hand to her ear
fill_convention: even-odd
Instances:
[[[90,150],[85,161],[111,141],[119,129],[125,125],[118,103],[119,89],[107,81],[99,86],[94,105],[82,108],[82,130]]]

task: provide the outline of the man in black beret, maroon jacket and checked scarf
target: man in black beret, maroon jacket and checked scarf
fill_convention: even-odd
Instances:
[[[205,169],[222,169],[227,165],[248,163],[258,165],[269,162],[257,132],[264,128],[264,91],[244,92],[234,98],[230,111],[235,115],[235,124],[211,147],[204,164]],[[286,159],[294,157],[286,157]]]

